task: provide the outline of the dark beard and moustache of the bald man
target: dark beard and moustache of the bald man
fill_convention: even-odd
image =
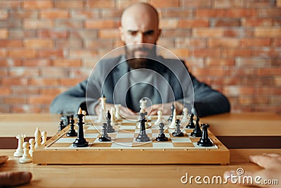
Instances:
[[[126,61],[129,65],[129,68],[137,69],[137,68],[152,68],[153,59],[156,57],[155,46],[152,49],[148,49],[145,46],[138,49],[128,49],[125,46],[126,50]],[[148,51],[148,57],[135,57],[135,51]],[[152,54],[152,55],[151,55]]]

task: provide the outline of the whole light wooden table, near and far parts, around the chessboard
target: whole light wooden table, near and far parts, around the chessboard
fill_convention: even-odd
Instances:
[[[202,118],[211,125],[217,137],[254,138],[281,137],[281,117],[273,113],[226,113]],[[51,136],[58,130],[59,115],[51,114],[0,114],[0,142],[14,138],[17,134],[33,137],[36,127]],[[16,141],[16,139],[15,139]],[[3,142],[1,142],[3,143]],[[279,144],[281,142],[278,142]],[[4,144],[6,144],[4,142]],[[15,142],[16,148],[17,142]],[[269,143],[270,144],[270,143]],[[7,144],[6,144],[7,145]],[[28,170],[32,182],[22,187],[203,187],[206,184],[181,183],[181,177],[223,176],[226,170],[243,168],[259,170],[249,163],[248,157],[256,153],[280,153],[277,149],[230,149],[230,165],[36,165],[20,164],[13,157],[14,149],[1,149],[1,155],[10,159],[1,165],[0,171]],[[232,184],[214,184],[209,187],[240,187]]]

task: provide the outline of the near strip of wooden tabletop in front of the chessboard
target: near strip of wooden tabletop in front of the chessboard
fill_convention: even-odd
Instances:
[[[226,170],[243,168],[245,172],[260,170],[249,163],[248,157],[257,153],[280,153],[281,149],[232,149],[230,165],[36,165],[18,163],[14,150],[0,150],[11,158],[0,171],[27,170],[32,172],[30,184],[22,187],[241,187],[233,184],[181,183],[181,177],[223,176]]]

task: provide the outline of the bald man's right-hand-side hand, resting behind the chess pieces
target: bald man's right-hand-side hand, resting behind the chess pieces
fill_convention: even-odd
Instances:
[[[157,111],[162,111],[162,115],[170,115],[172,104],[172,102],[166,104],[153,104],[152,106],[149,106],[146,111],[149,115],[157,115]],[[176,108],[176,113],[181,114],[183,111],[183,104],[181,104],[179,101],[175,101],[174,106]]]

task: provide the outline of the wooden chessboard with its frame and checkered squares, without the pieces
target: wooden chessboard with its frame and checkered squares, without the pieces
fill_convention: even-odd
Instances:
[[[168,142],[157,142],[159,126],[156,118],[149,117],[145,131],[150,142],[136,142],[140,129],[136,120],[121,120],[113,125],[115,132],[108,133],[110,142],[100,142],[102,123],[97,117],[86,117],[84,137],[89,146],[77,148],[72,145],[77,137],[67,137],[70,125],[39,146],[33,152],[33,163],[39,164],[221,164],[229,163],[229,150],[208,130],[213,146],[198,146],[200,138],[190,137],[191,129],[181,124],[184,137],[174,137],[175,129],[167,123],[164,134]],[[77,126],[76,126],[77,127]]]

